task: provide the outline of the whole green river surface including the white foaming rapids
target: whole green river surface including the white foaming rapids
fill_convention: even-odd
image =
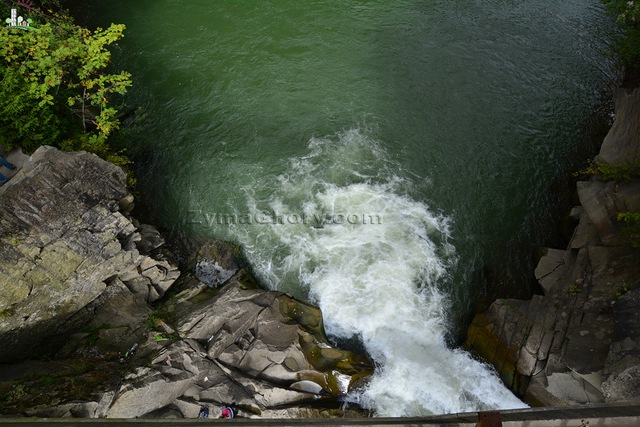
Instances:
[[[597,0],[84,3],[127,25],[153,221],[318,304],[375,359],[349,399],[377,415],[523,405],[452,331],[487,268],[531,275],[517,242],[612,80]]]

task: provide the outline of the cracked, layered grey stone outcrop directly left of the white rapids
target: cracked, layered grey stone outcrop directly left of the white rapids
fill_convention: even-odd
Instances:
[[[244,270],[220,289],[185,280],[186,289],[162,310],[174,319],[170,344],[158,350],[151,338],[140,346],[139,357],[150,362],[125,377],[100,416],[160,411],[192,418],[202,406],[219,414],[231,401],[244,417],[279,416],[283,409],[291,416],[323,400],[337,408],[371,373],[368,359],[326,341],[316,307],[257,289]]]

